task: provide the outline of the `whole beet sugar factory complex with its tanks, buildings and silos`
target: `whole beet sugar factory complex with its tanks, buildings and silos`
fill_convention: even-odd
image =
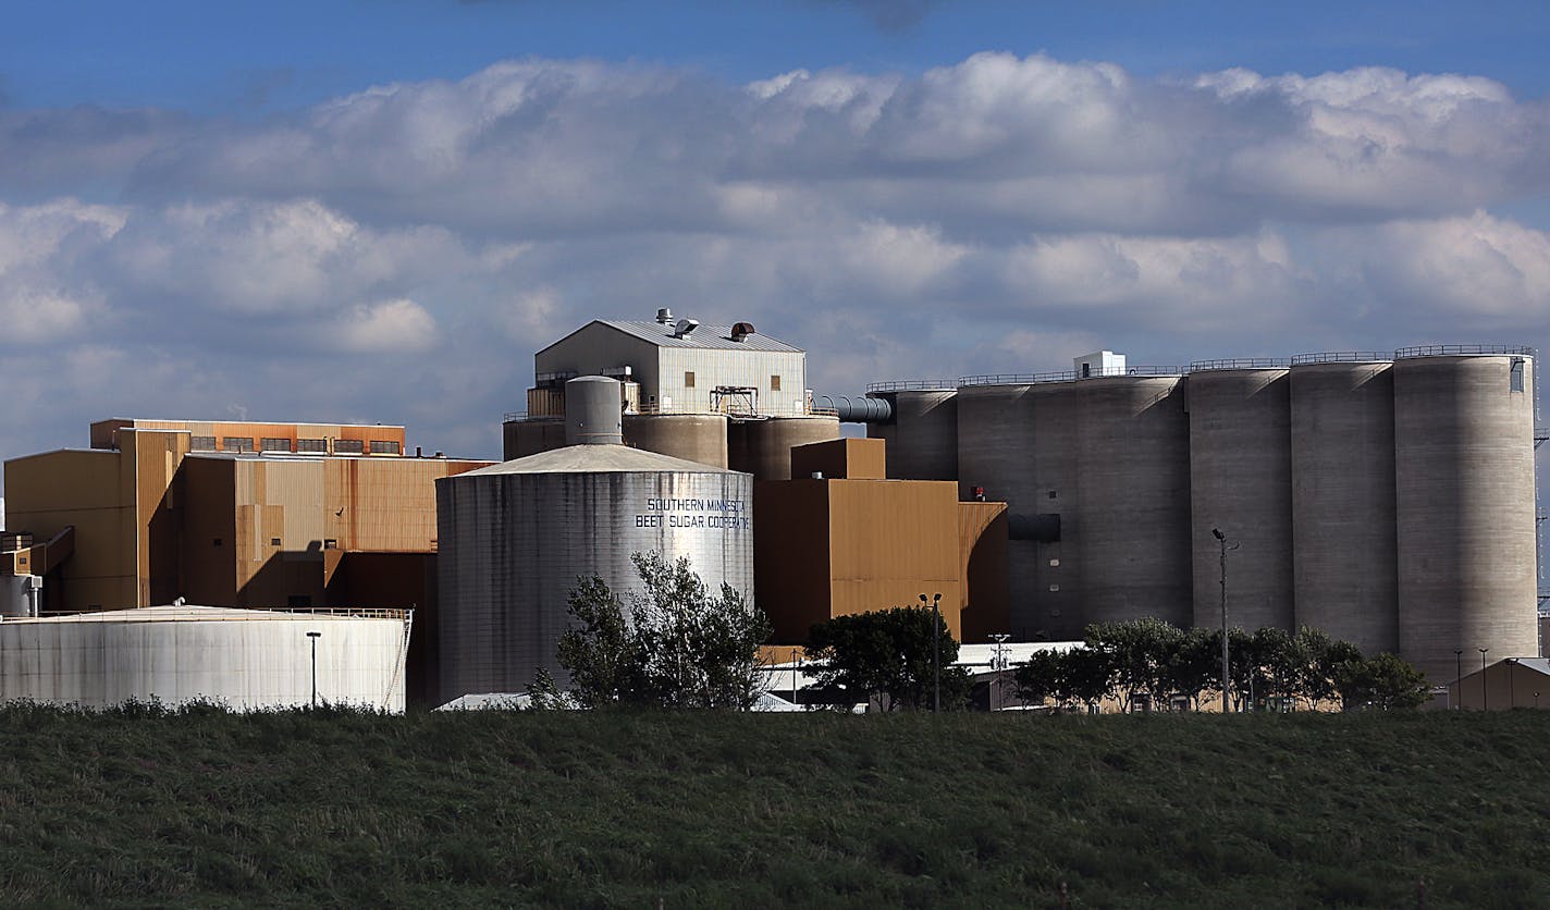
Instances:
[[[744,592],[780,648],[921,592],[969,643],[1220,626],[1226,600],[1449,684],[1462,653],[1541,654],[1534,363],[1105,350],[815,395],[800,347],[660,310],[539,350],[502,464],[398,426],[105,420],[5,465],[0,699],[522,691],[564,677],[577,580],[639,589],[648,550]]]

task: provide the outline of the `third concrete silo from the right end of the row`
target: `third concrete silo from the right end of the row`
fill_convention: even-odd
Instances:
[[[1189,397],[1195,625],[1221,628],[1221,543],[1228,620],[1294,631],[1291,569],[1291,374],[1285,367],[1197,367]]]

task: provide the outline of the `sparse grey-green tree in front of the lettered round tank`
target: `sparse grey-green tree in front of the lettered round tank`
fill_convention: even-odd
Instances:
[[[711,597],[688,558],[634,553],[645,592],[622,601],[601,578],[570,592],[580,623],[560,637],[560,665],[570,671],[570,698],[581,707],[622,704],[747,708],[764,691],[758,646],[769,637],[764,614],[730,584]],[[535,701],[547,698],[535,681]],[[547,704],[547,702],[546,702]]]

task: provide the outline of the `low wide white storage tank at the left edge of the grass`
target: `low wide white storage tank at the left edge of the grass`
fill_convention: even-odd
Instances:
[[[316,642],[319,701],[401,713],[409,634],[405,611],[366,617],[177,605],[8,619],[0,622],[0,699],[302,707],[312,702]]]

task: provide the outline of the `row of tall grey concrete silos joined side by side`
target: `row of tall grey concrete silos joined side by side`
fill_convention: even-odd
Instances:
[[[893,425],[871,433],[899,476],[932,462],[911,439],[952,440],[966,496],[1059,516],[1011,543],[1017,637],[1220,623],[1221,529],[1234,625],[1322,628],[1440,679],[1455,651],[1536,651],[1531,371],[1524,349],[1429,347],[975,377],[950,425],[927,419],[941,389],[873,392]]]

